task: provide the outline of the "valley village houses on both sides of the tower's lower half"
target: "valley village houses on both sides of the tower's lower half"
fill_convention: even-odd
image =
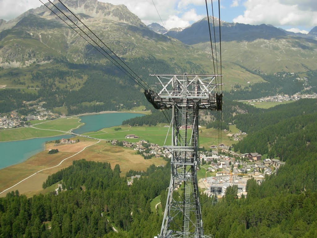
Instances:
[[[138,138],[135,135],[127,135],[126,138],[128,137]],[[112,140],[111,144],[134,149],[137,154],[142,155],[145,159],[163,157],[168,160],[172,157],[168,149],[145,140],[139,140],[138,142]],[[239,197],[242,195],[246,196],[248,179],[254,177],[257,183],[260,184],[266,175],[276,173],[277,169],[285,164],[285,162],[278,159],[262,158],[262,155],[256,152],[238,154],[224,144],[211,145],[209,149],[209,151],[205,150],[199,153],[200,167],[214,173],[214,176],[205,177],[202,181],[204,187],[201,186],[201,188],[207,188],[204,192],[209,196],[222,197],[226,192],[226,188],[233,185],[237,185]],[[139,179],[140,176],[133,175],[127,181],[128,185],[133,183],[134,178]]]

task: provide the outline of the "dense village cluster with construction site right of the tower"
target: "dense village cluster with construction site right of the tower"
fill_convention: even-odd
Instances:
[[[278,159],[263,159],[256,152],[238,154],[224,144],[211,145],[210,149],[211,153],[200,154],[200,159],[202,164],[208,164],[208,171],[216,173],[204,179],[204,186],[208,188],[206,194],[217,198],[225,195],[226,188],[234,185],[238,188],[239,197],[246,196],[246,184],[250,178],[254,177],[261,184],[266,175],[276,173],[285,164]]]

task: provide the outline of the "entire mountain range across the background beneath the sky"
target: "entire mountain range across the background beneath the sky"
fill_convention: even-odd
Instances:
[[[154,83],[154,79],[147,76],[150,73],[213,73],[211,53],[214,53],[215,60],[217,54],[217,63],[220,63],[220,38],[217,34],[211,34],[212,39],[216,39],[212,52],[207,33],[207,17],[187,28],[167,31],[158,23],[146,26],[125,5],[101,3],[97,0],[65,0],[63,3],[148,83]],[[63,12],[68,12],[57,0],[54,4]],[[51,3],[47,6],[55,9],[54,11],[70,24]],[[112,54],[74,16],[70,13],[67,15],[75,20],[91,39],[74,26],[81,35],[90,42],[94,40],[107,53]],[[211,20],[212,18],[210,24],[213,26]],[[215,30],[218,32],[219,20],[214,20]],[[314,59],[317,51],[317,27],[305,35],[292,34],[271,25],[221,21],[221,33],[224,90],[229,91],[237,84],[248,87],[265,82],[265,74],[286,72],[308,77],[308,72],[317,70]],[[63,101],[66,100],[65,92],[61,96],[60,90],[72,90],[70,94],[74,94],[86,87],[85,90],[90,91],[90,85],[95,85],[90,82],[90,74],[99,72],[100,77],[104,78],[99,82],[102,84],[99,90],[109,84],[119,85],[110,93],[114,94],[113,98],[101,99],[95,96],[79,101],[91,104],[108,100],[114,106],[123,104],[120,97],[115,99],[115,93],[122,92],[120,85],[129,85],[130,88],[133,85],[132,82],[127,84],[123,80],[127,77],[114,68],[100,52],[44,5],[28,10],[8,22],[0,20],[1,85],[53,89],[59,105],[69,105],[71,103]],[[54,77],[51,71],[54,71]],[[131,88],[131,94],[137,95],[138,92],[138,88]],[[136,100],[132,97],[129,99],[131,104]],[[144,103],[141,97],[137,104]],[[127,100],[126,98],[123,102]]]

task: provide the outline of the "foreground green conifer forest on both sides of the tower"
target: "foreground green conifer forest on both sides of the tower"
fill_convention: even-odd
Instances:
[[[247,197],[237,198],[233,186],[212,205],[212,198],[201,194],[206,234],[317,237],[316,101],[299,100],[235,117],[238,128],[252,125],[235,150],[263,150],[286,164],[276,174],[266,175],[260,185],[251,178]],[[141,178],[128,186],[119,165],[112,169],[108,163],[74,161],[43,184],[45,188],[61,181],[58,195],[27,198],[16,191],[0,198],[1,237],[154,237],[163,215],[153,213],[150,202],[161,195],[164,209],[170,166],[152,165],[143,173],[129,171],[126,176],[136,174]]]

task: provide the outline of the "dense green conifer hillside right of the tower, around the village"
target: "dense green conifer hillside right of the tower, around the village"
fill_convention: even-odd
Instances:
[[[268,152],[286,164],[261,185],[250,179],[247,198],[226,194],[216,206],[205,201],[206,232],[223,238],[317,236],[315,110],[316,100],[300,100],[264,113],[237,116],[237,126],[249,126],[250,134],[235,150]]]

